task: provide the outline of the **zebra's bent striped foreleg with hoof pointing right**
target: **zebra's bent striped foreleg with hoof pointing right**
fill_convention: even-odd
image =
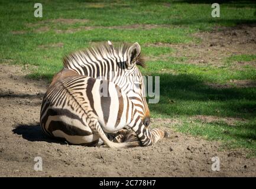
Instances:
[[[142,146],[154,145],[157,141],[168,135],[167,132],[161,131],[158,128],[148,129],[143,124],[138,113],[135,114],[134,119],[128,126],[136,133]]]

